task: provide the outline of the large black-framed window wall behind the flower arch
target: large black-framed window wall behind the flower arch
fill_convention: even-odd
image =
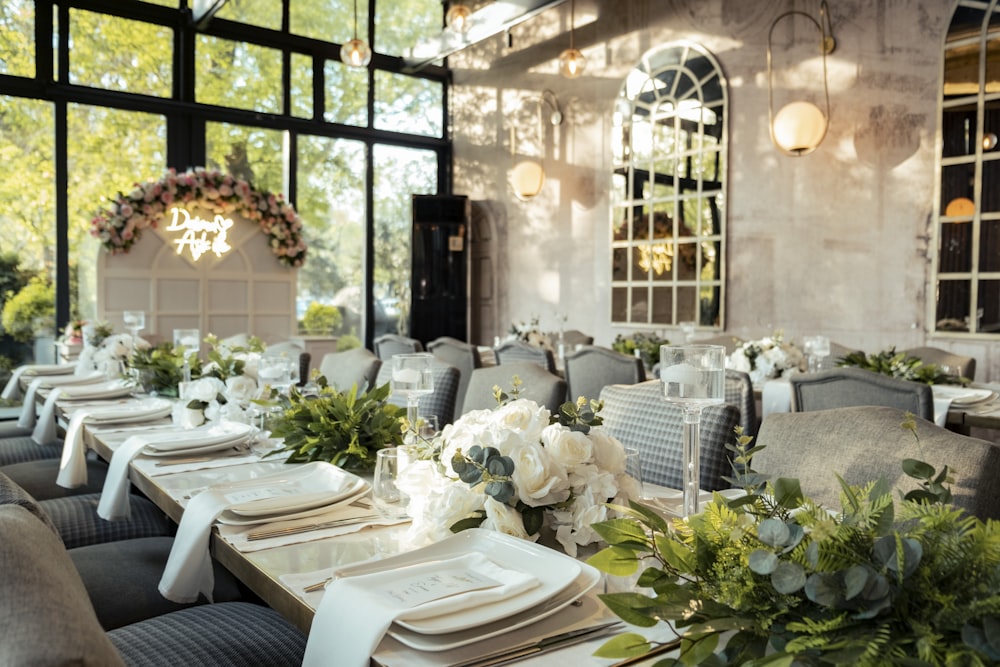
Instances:
[[[354,0],[228,0],[201,27],[193,0],[0,4],[0,256],[55,285],[55,321],[95,315],[101,198],[207,166],[298,208],[300,317],[405,333],[410,194],[446,192],[451,156],[446,71],[398,56],[440,29],[439,0],[359,0],[366,69],[339,58]]]

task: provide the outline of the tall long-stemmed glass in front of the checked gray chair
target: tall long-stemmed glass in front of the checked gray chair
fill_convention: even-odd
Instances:
[[[684,410],[681,516],[698,513],[701,411],[724,400],[726,348],[722,345],[661,345],[660,380],[667,402]]]

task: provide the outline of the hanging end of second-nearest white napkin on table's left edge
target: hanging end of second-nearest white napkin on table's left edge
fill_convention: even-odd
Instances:
[[[206,489],[184,508],[170,556],[160,578],[160,594],[178,603],[196,602],[198,594],[212,600],[215,573],[208,540],[212,524],[230,502],[221,491]]]

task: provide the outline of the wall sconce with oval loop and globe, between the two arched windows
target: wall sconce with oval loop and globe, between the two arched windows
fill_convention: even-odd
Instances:
[[[774,70],[771,62],[771,38],[777,25],[792,16],[803,16],[816,26],[819,31],[819,50],[823,57],[823,96],[826,101],[826,111],[824,112],[812,102],[796,101],[786,104],[774,113]],[[771,141],[786,155],[800,157],[812,153],[823,142],[826,137],[826,130],[830,123],[830,90],[827,86],[826,77],[826,56],[833,53],[836,41],[833,38],[833,31],[830,28],[830,8],[826,0],[822,0],[819,5],[819,18],[817,21],[810,14],[792,10],[785,12],[774,20],[771,29],[767,33],[767,118],[768,130],[771,133]]]

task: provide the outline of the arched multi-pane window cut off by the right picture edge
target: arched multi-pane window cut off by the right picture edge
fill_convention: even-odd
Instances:
[[[933,330],[1000,333],[1000,9],[961,0],[945,41]]]

